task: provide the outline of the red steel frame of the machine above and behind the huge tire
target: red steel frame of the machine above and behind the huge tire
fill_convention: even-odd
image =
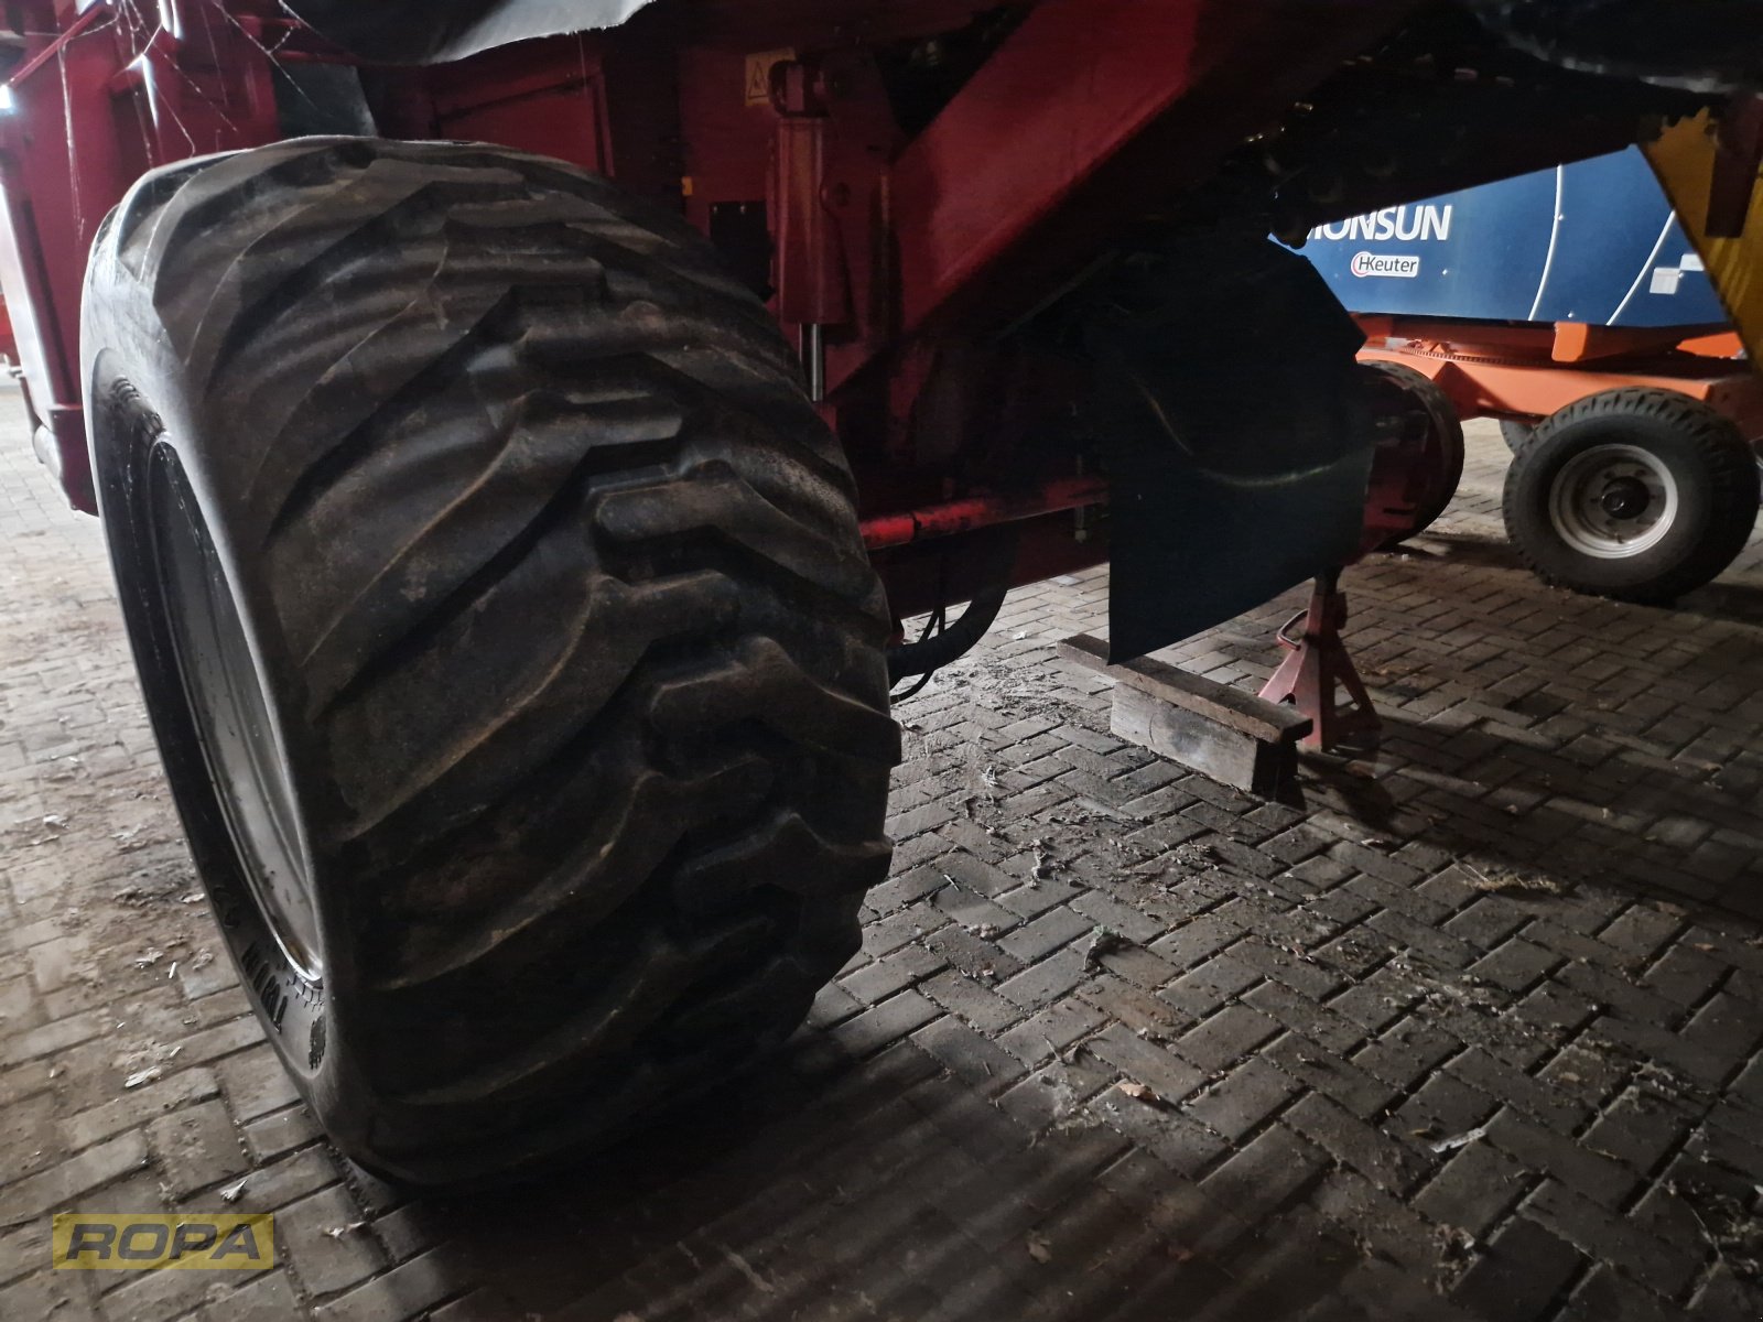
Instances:
[[[924,453],[913,411],[947,344],[1028,312],[1093,259],[1095,220],[1121,189],[1148,212],[1178,197],[1412,0],[1044,0],[903,146],[871,51],[984,9],[659,5],[612,32],[376,71],[376,116],[388,136],[472,137],[617,175],[705,231],[723,208],[763,203],[770,305],[844,441],[906,615],[950,587],[926,566],[929,538],[1017,522],[1017,582],[1107,559],[1105,529],[1070,513],[1102,502],[1104,483],[1038,472],[1005,488]],[[0,284],[39,455],[93,511],[78,308],[99,224],[150,167],[280,139],[279,65],[351,62],[273,0],[12,0],[7,12],[25,58],[0,116]],[[1245,67],[1261,71],[1252,85]],[[963,407],[996,428],[973,416],[994,407],[980,391]]]

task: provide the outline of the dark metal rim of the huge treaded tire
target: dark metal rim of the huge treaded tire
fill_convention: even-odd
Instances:
[[[238,605],[169,446],[153,451],[148,501],[176,672],[238,869],[287,962],[317,982],[323,945],[294,790]]]

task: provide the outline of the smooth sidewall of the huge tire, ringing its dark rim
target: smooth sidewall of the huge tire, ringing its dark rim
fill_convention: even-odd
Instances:
[[[252,657],[268,680],[263,691],[287,767],[301,843],[314,873],[321,873],[333,864],[317,848],[324,820],[323,800],[312,791],[314,784],[321,784],[310,774],[316,751],[303,737],[301,723],[287,719],[286,710],[286,694],[300,693],[298,679],[280,645],[268,587],[252,571],[250,557],[242,553],[243,531],[234,525],[227,504],[217,499],[203,446],[192,442],[203,434],[205,423],[190,405],[185,368],[176,358],[167,330],[157,319],[139,314],[141,301],[92,298],[95,289],[134,279],[115,245],[100,236],[86,284],[83,342],[102,347],[88,347],[86,353],[85,407],[90,420],[99,516],[136,668],[196,869],[213,906],[227,955],[263,1024],[264,1036],[314,1110],[324,1118],[326,1128],[335,1132],[344,1146],[358,1147],[360,1144],[351,1140],[365,1139],[370,1118],[360,1116],[351,1107],[333,1105],[342,1095],[363,1095],[361,1088],[344,1086],[346,1072],[353,1070],[351,1052],[340,1017],[331,1014],[337,998],[347,996],[356,973],[349,962],[351,943],[338,940],[340,932],[347,931],[349,918],[337,911],[340,888],[316,881],[312,902],[317,911],[323,971],[317,984],[312,984],[282,952],[245,881],[231,827],[212,786],[208,756],[190,712],[171,638],[171,617],[152,522],[155,485],[152,465],[166,462],[166,457],[155,451],[167,449],[175,457],[220,564],[226,589],[238,608]],[[116,308],[136,312],[129,316]],[[123,386],[136,393],[138,407],[153,414],[162,425],[157,439],[118,425],[122,420],[111,400]],[[249,420],[243,420],[243,425],[249,425]]]

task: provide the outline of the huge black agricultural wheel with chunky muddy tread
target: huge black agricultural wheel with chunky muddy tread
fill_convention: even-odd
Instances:
[[[192,853],[349,1156],[531,1174],[800,1022],[890,855],[889,613],[693,231],[539,157],[291,141],[138,183],[85,342]]]

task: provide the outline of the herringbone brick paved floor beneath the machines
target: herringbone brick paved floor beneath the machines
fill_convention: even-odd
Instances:
[[[1105,576],[1024,590],[901,709],[894,874],[776,1066],[411,1202],[247,1015],[97,527],[0,414],[0,1318],[1763,1315],[1763,546],[1678,612],[1541,589],[1477,428],[1440,532],[1349,575],[1387,739],[1306,811],[1112,739],[1049,650]],[[1179,657],[1248,684],[1294,606]],[[55,1209],[222,1206],[273,1271],[48,1271]]]

